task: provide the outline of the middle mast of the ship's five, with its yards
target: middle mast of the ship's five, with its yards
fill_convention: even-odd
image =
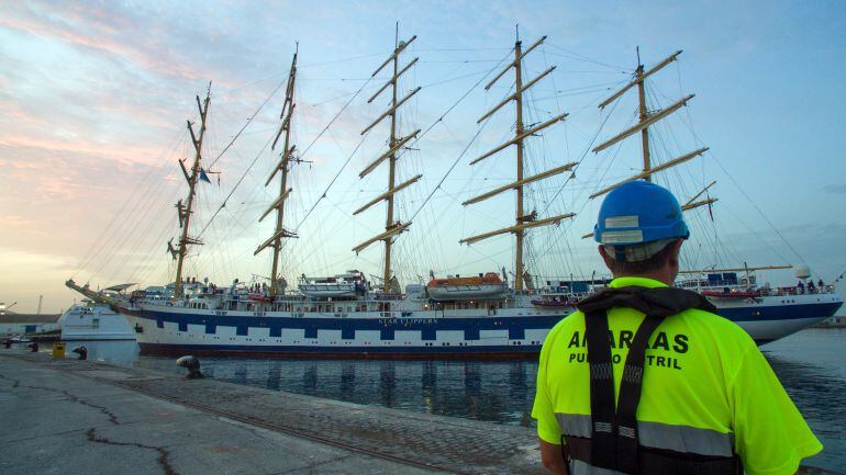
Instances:
[[[390,117],[391,120],[391,126],[390,126],[390,136],[388,139],[388,151],[382,154],[379,158],[377,158],[374,162],[371,162],[367,168],[365,168],[361,173],[359,173],[360,178],[364,178],[368,173],[370,173],[372,170],[376,169],[376,167],[379,166],[382,161],[386,159],[388,160],[388,191],[382,193],[381,195],[377,196],[375,200],[370,201],[366,205],[358,208],[353,214],[361,213],[363,211],[367,210],[368,207],[377,204],[380,201],[387,201],[388,202],[388,210],[386,213],[386,219],[385,219],[385,233],[372,237],[360,245],[353,248],[354,252],[360,252],[371,244],[382,240],[385,241],[385,268],[382,270],[382,290],[385,293],[391,292],[391,279],[393,276],[393,272],[391,270],[391,245],[393,244],[394,236],[399,235],[400,233],[404,231],[411,223],[401,223],[399,220],[394,222],[393,217],[393,195],[411,185],[412,183],[416,182],[421,179],[422,176],[416,176],[412,178],[411,180],[408,180],[403,183],[400,183],[397,185],[397,152],[411,139],[415,138],[418,134],[420,133],[420,129],[414,131],[413,133],[407,135],[405,137],[398,137],[398,124],[397,124],[397,111],[399,110],[402,104],[405,103],[409,99],[411,99],[412,95],[416,94],[418,91],[420,91],[420,88],[414,89],[411,91],[408,95],[402,98],[401,100],[398,99],[399,97],[399,78],[402,76],[403,72],[408,71],[415,63],[418,63],[419,58],[412,59],[408,65],[405,65],[402,69],[399,67],[399,57],[400,53],[402,53],[414,39],[416,39],[416,35],[412,36],[407,42],[400,42],[399,41],[399,25],[397,27],[397,32],[394,35],[394,48],[393,53],[391,54],[388,59],[382,63],[382,65],[372,73],[371,77],[375,77],[379,71],[381,71],[388,64],[393,64],[393,75],[391,79],[388,80],[388,82],[385,83],[376,93],[370,97],[370,99],[367,101],[367,103],[372,102],[379,94],[382,93],[382,91],[387,90],[388,87],[391,88],[391,106],[386,112],[383,112],[374,123],[371,123],[367,128],[365,128],[361,132],[361,135],[366,134],[368,131],[370,131],[376,124],[381,122],[385,117]]]

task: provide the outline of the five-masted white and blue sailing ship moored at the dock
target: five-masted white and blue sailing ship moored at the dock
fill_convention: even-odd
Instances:
[[[209,93],[202,102],[197,98],[199,133],[194,133],[190,122],[188,124],[194,147],[190,170],[180,161],[188,184],[188,196],[185,202],[177,203],[180,238],[176,247],[171,242],[168,244],[172,259],[176,260],[176,278],[172,284],[136,291],[122,298],[92,295],[91,291],[80,287],[73,280],[69,280],[67,285],[94,302],[110,304],[124,315],[134,328],[144,353],[365,358],[517,358],[537,353],[547,332],[575,310],[578,299],[608,284],[606,279],[558,279],[546,280],[545,284],[542,284],[535,282],[525,264],[524,238],[528,231],[559,224],[575,216],[574,213],[538,216],[535,211],[527,213],[524,203],[527,185],[572,172],[577,166],[576,162],[568,162],[532,176],[526,174],[524,144],[568,116],[567,113],[559,113],[537,124],[524,124],[523,101],[526,91],[547,77],[555,67],[549,67],[524,82],[523,61],[546,37],[539,38],[525,49],[517,41],[513,48],[513,59],[510,59],[508,66],[486,86],[486,90],[491,89],[497,81],[513,70],[513,93],[486,112],[478,122],[488,120],[513,102],[514,135],[504,144],[470,161],[470,165],[513,149],[514,181],[463,203],[464,206],[469,206],[502,193],[514,192],[516,205],[511,225],[461,239],[461,244],[472,245],[494,236],[512,235],[515,240],[513,273],[502,269],[501,272],[471,276],[436,278],[432,274],[427,284],[413,283],[401,289],[393,269],[392,245],[410,229],[412,223],[403,223],[397,218],[394,199],[398,193],[420,181],[422,176],[416,174],[398,183],[400,152],[421,134],[420,129],[414,129],[401,135],[398,114],[403,104],[421,88],[413,89],[400,98],[398,82],[400,77],[418,63],[418,58],[414,58],[401,66],[403,53],[415,38],[416,36],[412,36],[408,41],[397,42],[392,54],[372,73],[372,77],[376,77],[390,67],[390,79],[368,101],[370,103],[381,94],[389,93],[390,106],[361,132],[366,134],[383,121],[390,122],[387,149],[360,172],[360,178],[364,178],[387,165],[387,190],[354,213],[358,215],[382,202],[386,204],[385,230],[353,248],[354,252],[360,252],[381,241],[383,268],[378,282],[371,284],[364,272],[348,270],[332,276],[314,278],[303,274],[298,289],[292,290],[288,289],[288,283],[281,276],[280,251],[283,242],[298,237],[294,230],[286,227],[285,213],[296,185],[291,182],[289,172],[301,162],[291,137],[298,72],[294,53],[280,115],[281,123],[271,147],[276,149],[277,145],[281,144],[279,161],[265,184],[272,184],[279,177],[279,193],[259,217],[261,222],[274,215],[276,226],[267,240],[255,250],[255,255],[265,250],[271,251],[269,285],[233,284],[229,287],[218,287],[196,279],[183,278],[183,261],[188,248],[202,244],[190,236],[189,229],[196,206],[196,186],[202,174],[201,158]],[[641,135],[643,171],[625,181],[650,180],[654,174],[691,160],[706,150],[699,148],[655,167],[650,160],[649,127],[678,111],[692,95],[659,111],[648,111],[645,80],[672,63],[680,53],[677,52],[649,70],[639,65],[638,58],[633,80],[600,104],[600,109],[603,109],[630,90],[636,89],[638,92],[637,123],[593,149],[600,152],[627,137]],[[622,182],[608,186],[594,193],[591,199],[599,197],[620,184]],[[710,206],[715,200],[700,200],[706,190],[708,188],[692,196],[684,204],[684,210]],[[771,268],[744,265],[739,269],[691,271],[678,284],[708,295],[720,308],[723,317],[736,321],[759,342],[782,338],[828,318],[842,305],[832,286],[824,286],[815,293],[800,293],[795,287],[771,290],[758,285],[755,271],[764,269]]]

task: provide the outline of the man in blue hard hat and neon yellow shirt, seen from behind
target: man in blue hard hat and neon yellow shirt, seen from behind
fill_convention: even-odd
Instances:
[[[689,236],[656,184],[602,203],[594,238],[614,280],[541,351],[532,416],[549,472],[792,475],[822,450],[753,339],[671,287]]]

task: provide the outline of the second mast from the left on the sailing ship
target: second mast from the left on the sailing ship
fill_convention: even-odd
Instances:
[[[270,173],[270,177],[267,178],[267,181],[265,182],[265,186],[270,184],[270,181],[272,181],[274,177],[276,177],[277,172],[280,172],[281,180],[279,183],[279,196],[274,201],[270,206],[267,208],[267,211],[261,214],[261,216],[258,218],[258,222],[260,223],[267,215],[269,215],[274,210],[276,210],[276,230],[274,231],[272,236],[270,236],[269,239],[267,239],[265,242],[263,242],[256,251],[253,253],[253,256],[261,252],[265,248],[274,248],[274,263],[272,268],[270,270],[270,294],[271,295],[278,295],[282,292],[285,292],[285,289],[281,286],[281,278],[279,275],[279,252],[282,249],[282,238],[296,238],[297,235],[292,231],[289,231],[285,228],[285,201],[288,199],[288,195],[291,193],[291,188],[288,186],[288,171],[290,170],[290,163],[299,161],[297,158],[293,157],[294,149],[297,148],[293,144],[291,144],[291,125],[293,122],[293,109],[294,109],[294,101],[293,101],[293,88],[297,80],[297,55],[299,54],[299,44],[297,45],[297,48],[293,53],[293,59],[291,60],[291,70],[288,73],[288,87],[286,88],[285,92],[285,103],[282,104],[282,112],[279,115],[279,120],[281,121],[281,125],[279,126],[279,131],[276,133],[276,138],[274,139],[274,144],[271,145],[270,149],[276,150],[276,145],[279,142],[279,138],[285,135],[285,138],[282,140],[282,152],[280,154],[280,160],[279,163],[277,163],[276,167],[274,167],[272,172]]]

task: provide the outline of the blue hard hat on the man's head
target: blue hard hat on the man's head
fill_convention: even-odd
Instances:
[[[643,180],[630,181],[611,191],[593,226],[593,239],[611,246],[688,237],[690,230],[676,196],[666,188]]]

